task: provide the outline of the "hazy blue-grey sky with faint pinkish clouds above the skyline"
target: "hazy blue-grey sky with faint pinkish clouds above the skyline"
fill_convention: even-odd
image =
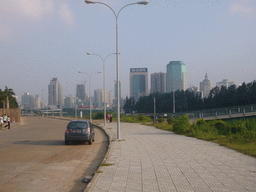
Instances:
[[[99,0],[119,10],[136,0]],[[118,15],[119,75],[129,96],[130,68],[166,72],[170,61],[183,61],[188,86],[199,86],[207,72],[213,86],[228,79],[255,80],[255,0],[149,0]],[[52,78],[64,96],[76,84],[92,92],[103,87],[103,62],[116,52],[116,19],[102,4],[84,0],[0,0],[0,89],[30,92],[47,102]],[[106,90],[114,92],[116,57],[105,60]],[[85,73],[78,73],[83,71]],[[150,82],[149,87],[150,87]]]

